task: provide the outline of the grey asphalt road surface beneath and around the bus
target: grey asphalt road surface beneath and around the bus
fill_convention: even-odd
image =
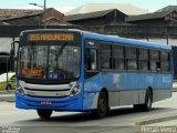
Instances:
[[[41,120],[32,110],[19,110],[14,103],[0,103],[0,132],[17,133],[142,133],[145,125],[135,125],[137,121],[177,115],[177,92],[171,99],[153,104],[150,112],[135,112],[132,106],[113,109],[102,120],[91,117],[88,113],[54,112],[50,120]],[[170,124],[169,124],[170,123]],[[176,126],[177,121],[149,123],[147,126]],[[177,129],[176,129],[177,133]]]

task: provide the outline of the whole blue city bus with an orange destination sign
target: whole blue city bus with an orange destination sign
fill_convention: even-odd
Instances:
[[[171,96],[171,48],[74,29],[20,34],[15,106],[90,112],[104,117],[112,106],[149,111]]]

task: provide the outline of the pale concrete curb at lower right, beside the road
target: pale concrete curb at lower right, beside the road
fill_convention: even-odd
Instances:
[[[177,119],[177,114],[155,117],[155,119],[149,119],[149,120],[138,120],[138,121],[135,121],[135,125],[146,125],[146,124],[170,121],[170,120],[176,120],[176,119]]]

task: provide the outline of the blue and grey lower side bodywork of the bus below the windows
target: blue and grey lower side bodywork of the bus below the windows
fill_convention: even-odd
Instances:
[[[171,96],[173,75],[158,73],[102,72],[84,83],[84,110],[97,108],[100,91],[108,91],[108,106],[140,104],[145,102],[146,90],[153,90],[153,100]]]

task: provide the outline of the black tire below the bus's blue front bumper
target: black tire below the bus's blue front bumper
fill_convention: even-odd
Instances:
[[[42,109],[37,110],[37,113],[41,119],[49,119],[52,112],[53,112],[52,110],[42,110]]]

